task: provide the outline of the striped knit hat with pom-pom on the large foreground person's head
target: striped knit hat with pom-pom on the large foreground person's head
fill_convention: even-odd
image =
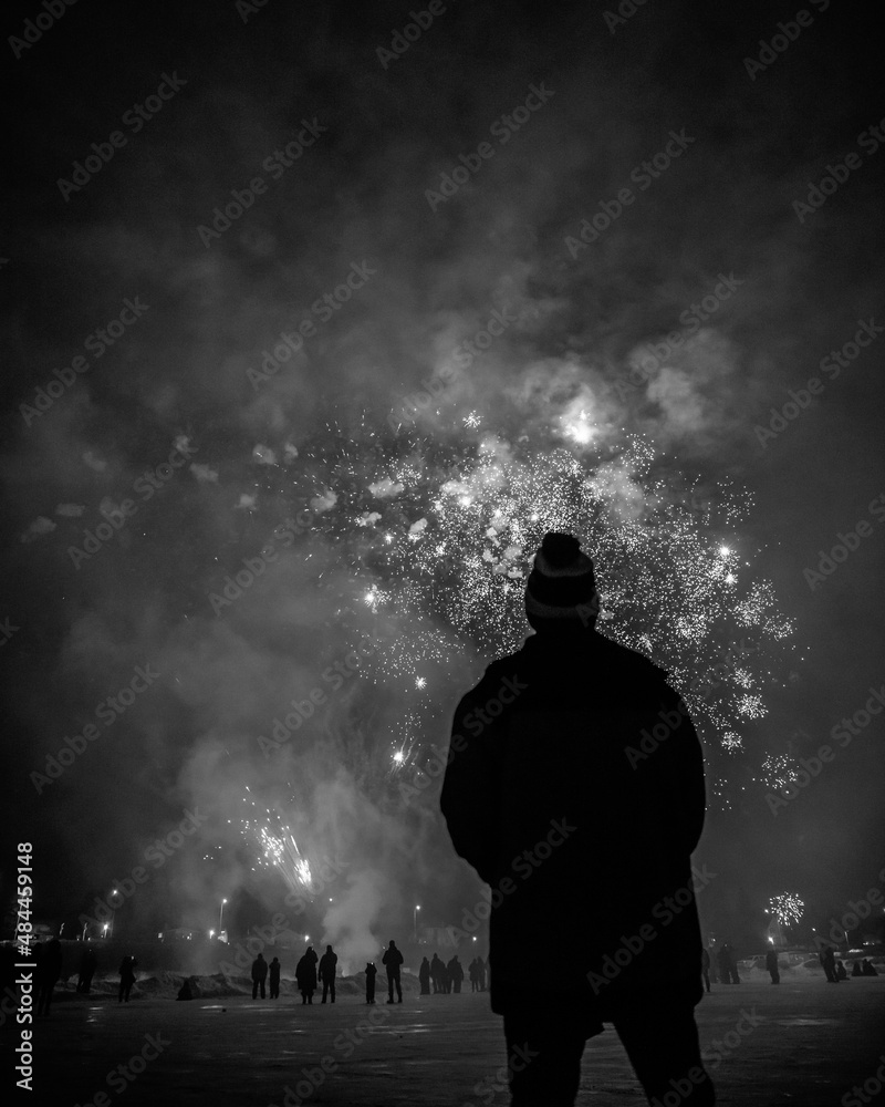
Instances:
[[[538,619],[581,620],[596,614],[593,562],[573,535],[549,530],[525,587],[525,611]]]

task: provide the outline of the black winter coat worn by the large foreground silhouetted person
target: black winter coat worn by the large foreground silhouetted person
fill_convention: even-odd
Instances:
[[[525,1002],[527,984],[602,1004],[700,987],[704,762],[665,677],[595,631],[545,630],[458,705],[440,803],[455,849],[491,886],[493,1011]],[[570,955],[527,980],[539,940]]]

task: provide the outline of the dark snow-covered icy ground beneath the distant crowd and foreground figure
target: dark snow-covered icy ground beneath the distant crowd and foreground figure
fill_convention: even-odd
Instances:
[[[61,990],[52,1015],[37,1024],[34,1093],[22,1101],[40,1107],[110,1107],[119,1096],[121,1107],[299,1101],[503,1107],[509,1101],[499,1079],[500,1020],[486,994],[419,996],[409,979],[405,1002],[388,1006],[379,974],[375,1006],[364,1003],[361,981],[343,981],[334,1006],[319,1004],[316,995],[312,1007],[303,1007],[291,990],[279,1001],[252,1001],[240,991],[244,981],[217,979],[198,981],[201,996],[179,1003],[174,995],[180,981],[165,973],[146,976],[123,1005],[110,987],[91,996]],[[698,1007],[698,1023],[721,1104],[853,1107],[843,1097],[853,1085],[863,1089],[865,1080],[873,1082],[870,1095],[885,1059],[885,975],[829,985],[822,973],[802,970],[784,973],[783,983],[773,986],[752,972],[740,985],[715,985]],[[15,1030],[8,1020],[3,1036]],[[4,1089],[14,1090],[12,1064],[6,1062]],[[873,1103],[885,1103],[885,1088],[877,1095]],[[587,1046],[579,1103],[645,1103],[611,1028]]]

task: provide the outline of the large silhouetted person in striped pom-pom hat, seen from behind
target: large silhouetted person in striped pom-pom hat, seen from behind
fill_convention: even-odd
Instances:
[[[574,1104],[585,1043],[608,1022],[649,1101],[709,1107],[700,743],[667,674],[596,633],[593,563],[571,535],[544,536],[525,609],[534,635],[458,704],[440,797],[456,852],[491,887],[512,1104]],[[527,979],[540,935],[573,952]]]

